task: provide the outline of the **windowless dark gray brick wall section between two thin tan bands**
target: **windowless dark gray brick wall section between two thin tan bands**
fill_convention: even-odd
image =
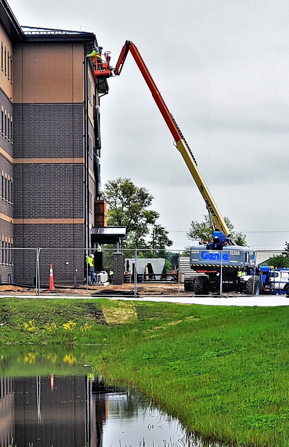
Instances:
[[[83,218],[83,164],[15,164],[13,183],[15,219]]]

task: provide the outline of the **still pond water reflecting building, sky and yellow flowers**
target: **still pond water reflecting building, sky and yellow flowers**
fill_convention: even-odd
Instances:
[[[89,348],[13,347],[0,355],[0,447],[197,445],[136,391],[95,375]]]

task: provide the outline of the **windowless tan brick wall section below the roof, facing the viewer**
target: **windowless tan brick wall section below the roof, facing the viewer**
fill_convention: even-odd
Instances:
[[[13,59],[15,103],[83,102],[82,44],[18,44]]]

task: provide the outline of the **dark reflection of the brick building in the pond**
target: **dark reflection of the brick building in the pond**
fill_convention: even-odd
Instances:
[[[136,411],[126,392],[108,388],[99,378],[5,377],[0,382],[0,447],[12,439],[19,447],[102,447],[108,405],[113,413],[119,404],[122,413]]]

